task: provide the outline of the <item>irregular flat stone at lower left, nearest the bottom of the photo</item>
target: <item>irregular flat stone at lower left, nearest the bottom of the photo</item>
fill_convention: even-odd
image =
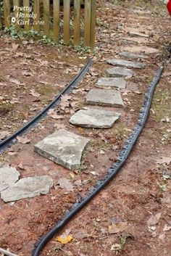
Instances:
[[[21,178],[20,181],[17,181],[8,189],[1,191],[1,199],[4,202],[12,202],[22,198],[48,194],[51,186],[53,186],[53,181],[50,176]]]

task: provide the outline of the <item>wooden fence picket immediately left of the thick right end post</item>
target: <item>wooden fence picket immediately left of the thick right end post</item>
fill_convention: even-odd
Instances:
[[[80,0],[74,1],[74,43],[80,44]]]

